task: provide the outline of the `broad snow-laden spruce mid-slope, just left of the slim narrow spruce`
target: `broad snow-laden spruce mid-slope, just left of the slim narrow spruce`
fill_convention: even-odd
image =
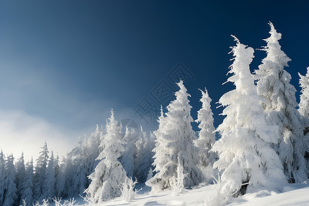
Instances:
[[[173,180],[177,177],[177,166],[181,164],[185,177],[185,187],[198,185],[204,181],[205,176],[198,168],[198,149],[194,146],[195,133],[192,130],[190,94],[181,80],[177,83],[176,100],[168,105],[166,117],[161,110],[159,129],[155,131],[157,144],[155,147],[155,176],[146,181],[152,187],[152,192],[172,190]]]

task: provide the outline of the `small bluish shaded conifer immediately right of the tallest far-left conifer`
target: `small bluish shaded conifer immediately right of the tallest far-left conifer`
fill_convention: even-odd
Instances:
[[[52,151],[47,164],[41,199],[52,201],[55,196],[55,181],[54,152]]]

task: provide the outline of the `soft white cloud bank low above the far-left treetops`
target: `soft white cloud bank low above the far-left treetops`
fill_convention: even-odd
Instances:
[[[69,136],[70,131],[59,128],[40,117],[34,117],[21,111],[0,111],[0,147],[5,154],[13,153],[18,159],[24,152],[25,159],[34,161],[47,141],[49,151],[65,155],[77,144]]]

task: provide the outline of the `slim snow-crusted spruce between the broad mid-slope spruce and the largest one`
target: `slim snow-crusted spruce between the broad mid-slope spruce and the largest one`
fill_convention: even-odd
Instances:
[[[212,168],[212,165],[216,161],[216,154],[211,150],[212,146],[216,141],[215,128],[214,128],[214,117],[210,108],[211,98],[209,98],[207,89],[205,92],[201,90],[202,108],[198,111],[198,118],[195,120],[198,124],[200,131],[198,132],[198,139],[194,141],[195,145],[199,149],[200,165],[201,168]],[[211,172],[207,170],[207,172]]]

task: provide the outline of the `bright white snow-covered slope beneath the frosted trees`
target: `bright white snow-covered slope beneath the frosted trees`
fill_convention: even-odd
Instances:
[[[240,198],[224,199],[218,196],[218,185],[207,185],[193,190],[185,190],[179,196],[172,191],[150,194],[149,187],[140,190],[133,201],[126,203],[122,198],[101,205],[133,206],[133,205],[308,205],[309,206],[309,184],[290,184],[284,187],[284,192],[277,193],[268,190],[259,190],[245,194]],[[84,205],[82,199],[78,198],[76,204]]]

